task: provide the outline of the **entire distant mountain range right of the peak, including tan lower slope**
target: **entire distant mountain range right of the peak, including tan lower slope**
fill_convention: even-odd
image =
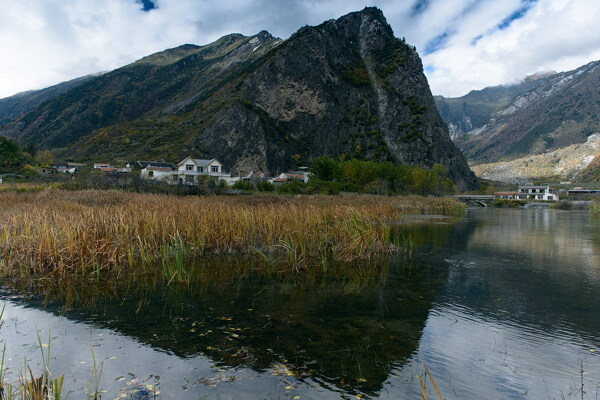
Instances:
[[[522,182],[597,175],[580,172],[596,165],[592,135],[600,133],[600,61],[436,102],[454,142],[482,177]]]

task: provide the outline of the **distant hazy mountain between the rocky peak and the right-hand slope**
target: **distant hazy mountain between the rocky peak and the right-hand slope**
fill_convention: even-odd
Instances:
[[[473,128],[485,125],[496,113],[509,106],[515,97],[534,89],[554,74],[554,71],[535,74],[517,84],[473,90],[457,98],[434,96],[435,105],[448,124],[450,138],[454,140]]]

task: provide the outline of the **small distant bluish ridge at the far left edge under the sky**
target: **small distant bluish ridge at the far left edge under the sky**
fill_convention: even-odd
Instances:
[[[87,75],[67,82],[59,83],[42,90],[31,90],[17,93],[14,96],[0,99],[0,125],[18,119],[40,104],[64,93],[97,75]]]

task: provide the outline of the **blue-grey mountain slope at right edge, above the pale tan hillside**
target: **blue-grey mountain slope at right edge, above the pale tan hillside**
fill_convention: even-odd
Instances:
[[[549,76],[455,143],[472,164],[581,144],[600,133],[600,61]]]

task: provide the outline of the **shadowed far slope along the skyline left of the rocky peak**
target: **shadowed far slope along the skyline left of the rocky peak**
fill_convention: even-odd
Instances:
[[[63,93],[0,134],[20,142],[35,139],[42,148],[68,148],[95,129],[179,110],[277,41],[266,32],[233,34],[208,46],[183,45],[153,54]]]

